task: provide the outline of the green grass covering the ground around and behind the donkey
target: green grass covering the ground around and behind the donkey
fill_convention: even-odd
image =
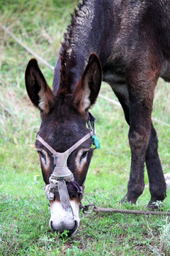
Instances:
[[[23,43],[55,65],[60,41],[77,1],[0,0],[0,23]],[[79,232],[51,233],[50,211],[43,191],[38,156],[33,148],[40,126],[39,113],[28,100],[24,72],[32,58],[0,28],[0,255],[169,255],[169,218],[164,215],[83,215]],[[52,85],[52,71],[40,64]],[[101,93],[115,99],[104,84]],[[165,97],[166,95],[166,97]],[[169,84],[159,80],[153,117],[170,123]],[[116,100],[116,99],[115,99]],[[137,206],[118,202],[126,193],[130,149],[128,125],[120,107],[98,97],[92,112],[101,151],[95,151],[86,179],[83,203],[146,210],[148,178]],[[170,172],[169,127],[154,122],[164,173]],[[169,210],[169,190],[163,210]]]

